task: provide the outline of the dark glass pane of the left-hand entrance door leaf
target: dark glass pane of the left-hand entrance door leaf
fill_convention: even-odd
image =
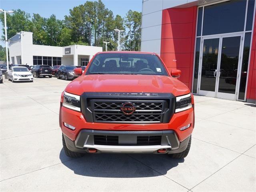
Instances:
[[[219,41],[219,38],[204,40],[200,90],[215,91]]]

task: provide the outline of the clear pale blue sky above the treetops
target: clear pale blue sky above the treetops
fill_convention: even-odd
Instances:
[[[38,13],[42,17],[48,18],[51,14],[55,14],[60,20],[69,14],[69,10],[80,4],[84,4],[86,0],[0,0],[0,8],[4,10],[21,9],[32,16]],[[106,8],[112,10],[114,15],[125,16],[128,10],[142,11],[142,0],[102,0]],[[2,36],[2,24],[0,24],[0,36]],[[8,37],[10,38],[10,37]],[[0,45],[5,46],[4,42]]]

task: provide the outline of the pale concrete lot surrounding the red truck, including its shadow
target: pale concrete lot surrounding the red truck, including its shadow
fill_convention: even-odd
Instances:
[[[255,191],[255,104],[195,96],[184,160],[154,154],[68,158],[58,125],[69,81],[0,84],[0,191]]]

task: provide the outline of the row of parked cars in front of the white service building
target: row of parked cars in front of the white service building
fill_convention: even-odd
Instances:
[[[77,66],[80,67],[80,66]],[[7,66],[0,64],[1,73],[7,73],[8,79],[12,82],[16,81],[30,81],[33,82],[34,76],[36,78],[46,77],[52,78],[52,76],[58,79],[64,78],[65,80],[73,80],[77,76],[74,74],[74,69],[76,66],[65,66],[65,65],[9,65],[9,70],[7,72]],[[82,70],[85,70],[86,66],[82,66]],[[2,76],[2,75],[1,75]],[[1,78],[0,78],[1,82]]]

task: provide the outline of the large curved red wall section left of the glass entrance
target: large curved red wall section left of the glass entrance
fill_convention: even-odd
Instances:
[[[162,12],[161,53],[168,70],[180,69],[179,78],[192,89],[197,6]]]

